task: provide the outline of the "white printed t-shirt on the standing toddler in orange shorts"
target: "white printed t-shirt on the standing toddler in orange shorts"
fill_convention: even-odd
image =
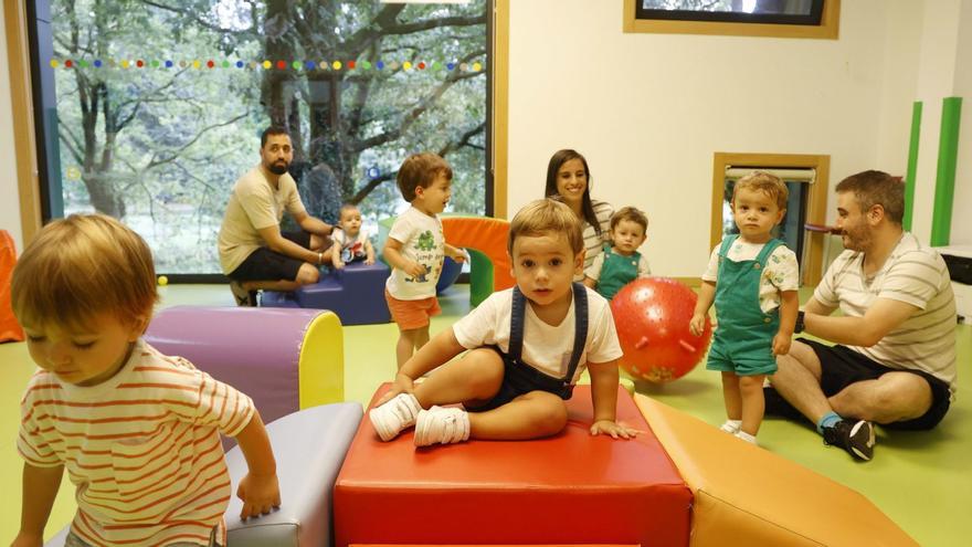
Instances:
[[[425,266],[425,275],[412,277],[393,267],[388,277],[388,292],[400,301],[419,301],[435,296],[435,284],[442,273],[445,238],[442,221],[410,207],[395,219],[388,236],[402,244],[402,256]]]

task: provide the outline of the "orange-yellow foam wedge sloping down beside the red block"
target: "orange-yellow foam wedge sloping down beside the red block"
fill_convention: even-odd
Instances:
[[[690,547],[917,546],[859,493],[643,395],[695,495]]]

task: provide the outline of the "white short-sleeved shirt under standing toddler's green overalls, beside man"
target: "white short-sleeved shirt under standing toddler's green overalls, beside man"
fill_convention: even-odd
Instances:
[[[733,262],[756,260],[765,243],[749,243],[737,238],[726,253]],[[712,249],[709,256],[709,265],[702,274],[702,281],[718,282],[719,277],[719,249],[722,244]],[[772,312],[780,307],[780,293],[783,291],[796,291],[800,288],[800,266],[796,264],[796,253],[786,245],[778,245],[767,260],[767,267],[760,277],[760,309],[763,313]]]

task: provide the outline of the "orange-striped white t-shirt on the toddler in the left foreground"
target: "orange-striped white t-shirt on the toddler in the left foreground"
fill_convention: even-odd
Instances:
[[[71,527],[91,545],[225,545],[230,475],[220,432],[235,436],[253,401],[139,340],[109,380],[80,387],[38,370],[21,401],[17,449],[64,465],[76,486]]]

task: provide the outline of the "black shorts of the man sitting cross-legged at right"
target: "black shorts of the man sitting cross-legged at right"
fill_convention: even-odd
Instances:
[[[846,346],[828,346],[816,340],[800,338],[800,341],[810,346],[821,361],[821,389],[827,397],[835,396],[847,386],[865,380],[875,380],[888,372],[910,372],[920,376],[931,388],[931,407],[928,411],[915,419],[892,423],[881,423],[888,429],[900,430],[928,430],[938,425],[938,422],[949,411],[951,392],[949,385],[923,370],[904,370],[888,368],[855,351]]]

